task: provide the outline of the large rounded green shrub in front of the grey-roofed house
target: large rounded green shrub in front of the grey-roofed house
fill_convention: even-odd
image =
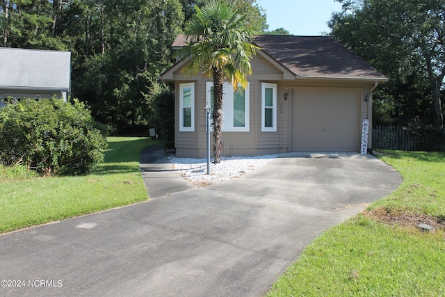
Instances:
[[[41,175],[80,175],[103,161],[106,138],[73,100],[22,100],[0,110],[0,163],[23,161]]]

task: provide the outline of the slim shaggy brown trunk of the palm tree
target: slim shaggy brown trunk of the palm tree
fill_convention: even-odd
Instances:
[[[219,163],[221,129],[223,128],[223,72],[213,66],[213,156],[214,163]]]

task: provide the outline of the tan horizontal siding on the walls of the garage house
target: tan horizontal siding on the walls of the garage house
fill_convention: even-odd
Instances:
[[[371,102],[364,102],[364,96],[368,94],[372,86],[370,82],[359,81],[332,81],[332,80],[307,80],[291,79],[283,80],[283,72],[263,56],[254,56],[252,59],[252,74],[248,77],[250,83],[250,129],[248,132],[223,131],[224,143],[221,156],[254,156],[261,154],[276,154],[291,150],[291,102],[292,88],[339,88],[355,89],[359,93],[359,118],[360,125],[364,118],[371,118]],[[179,132],[179,100],[175,109],[175,145],[178,156],[204,158],[207,156],[207,132],[206,132],[206,82],[211,78],[185,77],[181,70],[175,71],[176,96],[179,98],[179,83],[195,82],[195,131]],[[261,131],[261,83],[277,84],[277,131]],[[288,99],[284,99],[284,94]],[[370,101],[372,97],[370,96]],[[371,120],[371,119],[370,119]],[[361,127],[360,127],[361,131]],[[213,133],[213,132],[211,132]],[[370,134],[371,135],[371,134]],[[371,141],[371,139],[370,139]],[[213,150],[213,136],[211,135],[211,150]],[[213,158],[213,153],[211,152]]]

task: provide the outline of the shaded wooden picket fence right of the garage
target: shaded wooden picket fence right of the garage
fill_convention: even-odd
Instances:
[[[416,136],[402,126],[373,127],[373,149],[445,152],[445,135]]]

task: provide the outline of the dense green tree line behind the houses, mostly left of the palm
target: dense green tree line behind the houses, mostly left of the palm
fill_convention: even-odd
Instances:
[[[0,46],[72,52],[72,97],[118,128],[159,122],[157,77],[174,63],[171,45],[195,6],[209,0],[0,0]],[[256,33],[257,0],[232,0]]]

